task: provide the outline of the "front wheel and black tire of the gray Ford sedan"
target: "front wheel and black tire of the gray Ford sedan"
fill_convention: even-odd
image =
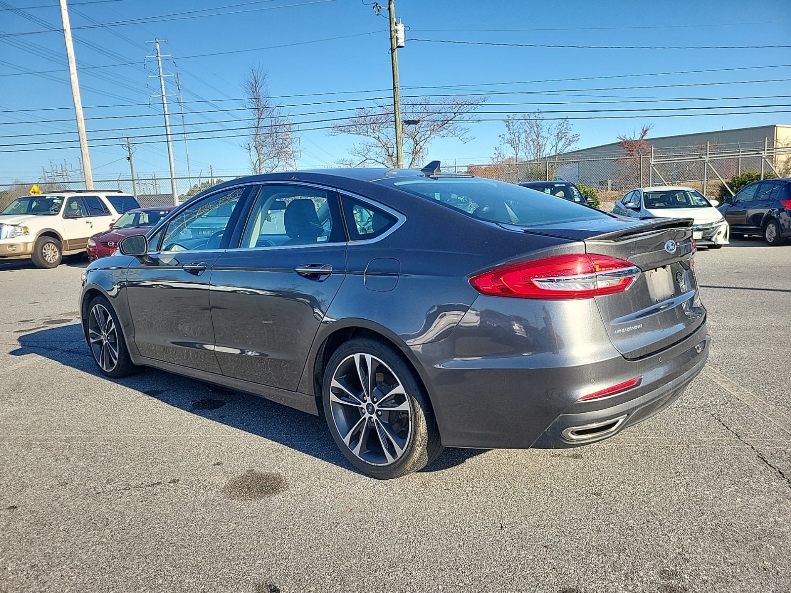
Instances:
[[[129,357],[121,323],[107,297],[93,297],[88,305],[88,319],[85,323],[88,348],[104,376],[120,379],[140,370]]]

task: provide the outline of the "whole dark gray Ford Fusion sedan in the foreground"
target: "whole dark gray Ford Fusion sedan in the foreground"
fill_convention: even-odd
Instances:
[[[422,171],[252,176],[90,264],[85,339],[323,414],[358,470],[443,447],[565,448],[669,406],[708,356],[691,220],[626,220]]]

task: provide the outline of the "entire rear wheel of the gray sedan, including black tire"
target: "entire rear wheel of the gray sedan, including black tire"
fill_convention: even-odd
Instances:
[[[364,387],[366,368],[374,369],[373,388]],[[441,453],[426,389],[390,346],[369,338],[345,342],[324,369],[321,391],[335,444],[364,474],[401,478]]]

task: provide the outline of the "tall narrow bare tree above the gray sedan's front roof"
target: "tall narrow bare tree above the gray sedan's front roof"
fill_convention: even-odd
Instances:
[[[251,67],[242,85],[247,108],[247,150],[252,173],[269,173],[282,168],[297,168],[296,134],[291,120],[269,96],[267,73]]]

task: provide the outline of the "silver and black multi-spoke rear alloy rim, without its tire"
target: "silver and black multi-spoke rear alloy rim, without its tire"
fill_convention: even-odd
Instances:
[[[335,368],[330,414],[346,447],[365,463],[389,466],[407,451],[413,424],[407,392],[371,354],[352,354]]]

